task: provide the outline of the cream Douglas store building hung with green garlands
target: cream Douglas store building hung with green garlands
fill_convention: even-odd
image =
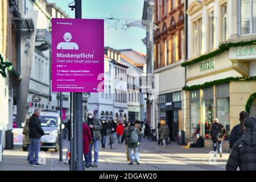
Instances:
[[[242,110],[255,115],[256,62],[253,1],[188,1],[188,60],[184,87],[187,140],[197,133],[209,140],[213,118],[227,130],[240,123]]]

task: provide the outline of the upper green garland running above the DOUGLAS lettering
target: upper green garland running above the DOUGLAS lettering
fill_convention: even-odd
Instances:
[[[199,56],[196,59],[193,59],[191,61],[182,63],[181,67],[187,67],[188,65],[199,63],[200,61],[207,60],[210,57],[220,55],[222,52],[228,51],[229,48],[231,48],[231,47],[242,47],[242,46],[250,46],[250,45],[255,45],[255,44],[256,44],[256,40],[247,40],[247,41],[235,42],[235,43],[226,42],[226,43],[220,44],[220,46],[218,46],[218,49],[216,51],[210,52],[206,55]]]

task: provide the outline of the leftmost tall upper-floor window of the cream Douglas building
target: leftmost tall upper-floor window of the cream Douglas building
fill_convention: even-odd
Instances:
[[[195,51],[195,56],[200,55],[202,51],[202,19],[197,19],[193,23],[193,29],[195,31],[195,36],[194,36],[194,51]]]

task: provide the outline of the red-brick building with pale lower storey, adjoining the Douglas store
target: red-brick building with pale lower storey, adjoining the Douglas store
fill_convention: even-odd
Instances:
[[[183,130],[181,116],[182,88],[185,85],[184,63],[184,1],[155,1],[154,74],[159,81],[159,96],[155,102],[156,125],[166,121],[170,139],[177,142],[178,129]],[[163,81],[164,80],[164,81]]]

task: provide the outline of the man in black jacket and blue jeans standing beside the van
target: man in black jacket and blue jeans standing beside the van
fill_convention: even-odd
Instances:
[[[30,149],[29,149],[29,164],[32,166],[42,166],[38,163],[41,137],[44,135],[44,131],[41,127],[39,119],[40,110],[35,109],[34,114],[28,121],[28,130],[30,137]]]

